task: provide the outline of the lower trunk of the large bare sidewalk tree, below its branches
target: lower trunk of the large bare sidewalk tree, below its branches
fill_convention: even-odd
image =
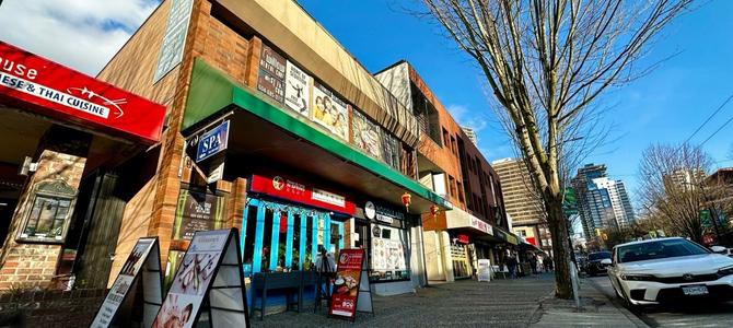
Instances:
[[[552,234],[552,251],[555,253],[555,296],[572,298],[572,281],[570,279],[570,245],[568,243],[568,220],[562,212],[562,195],[548,192],[547,225]]]

